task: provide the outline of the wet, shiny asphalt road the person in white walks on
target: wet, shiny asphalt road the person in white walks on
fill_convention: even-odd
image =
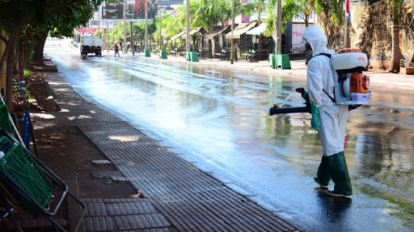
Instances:
[[[45,52],[84,98],[119,114],[197,167],[213,172],[308,231],[413,231],[414,92],[372,87],[351,112],[346,159],[352,200],[314,190],[322,147],[310,114],[268,116],[302,105],[304,78],[143,56],[89,56],[48,41]],[[332,187],[332,185],[331,185]]]

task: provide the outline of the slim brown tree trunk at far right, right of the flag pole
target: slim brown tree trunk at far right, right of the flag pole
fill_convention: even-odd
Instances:
[[[401,48],[400,48],[400,23],[398,23],[398,0],[393,1],[393,49],[391,55],[391,67],[389,72],[400,72]]]

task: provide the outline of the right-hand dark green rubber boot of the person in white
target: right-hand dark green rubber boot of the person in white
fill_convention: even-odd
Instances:
[[[333,191],[327,191],[331,196],[346,197],[352,195],[351,178],[349,178],[348,167],[344,151],[328,156],[331,164],[331,178],[335,183]]]

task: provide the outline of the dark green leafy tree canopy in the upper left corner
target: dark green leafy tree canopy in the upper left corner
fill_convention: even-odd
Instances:
[[[79,25],[86,25],[94,6],[103,0],[3,0],[0,1],[0,40],[5,49],[0,51],[0,70],[6,67],[6,103],[10,106],[12,78],[16,70],[23,67],[28,54],[38,43],[44,43],[43,34],[71,36]],[[46,39],[46,37],[45,37]],[[43,44],[42,44],[43,46]],[[22,52],[17,52],[17,50]],[[41,50],[43,52],[43,50]],[[17,57],[19,56],[25,57]],[[21,72],[23,70],[20,70]]]

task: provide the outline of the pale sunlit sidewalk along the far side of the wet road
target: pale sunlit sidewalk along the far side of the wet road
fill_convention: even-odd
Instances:
[[[113,51],[103,52],[103,55],[113,55]],[[122,56],[133,57],[132,53],[122,54]],[[266,74],[288,75],[292,78],[303,78],[306,80],[306,65],[304,60],[290,61],[290,70],[272,69],[269,61],[250,62],[242,60],[220,61],[219,59],[200,59],[199,62],[186,61],[184,56],[168,56],[168,59],[159,59],[159,54],[151,54],[151,57],[145,57],[142,53],[135,53],[136,59],[151,59],[165,63],[189,63],[193,65],[208,65],[212,67],[226,67],[237,70],[249,70]],[[364,72],[370,77],[371,86],[382,85],[383,87],[397,87],[408,91],[414,91],[414,75],[393,74],[389,72]]]

